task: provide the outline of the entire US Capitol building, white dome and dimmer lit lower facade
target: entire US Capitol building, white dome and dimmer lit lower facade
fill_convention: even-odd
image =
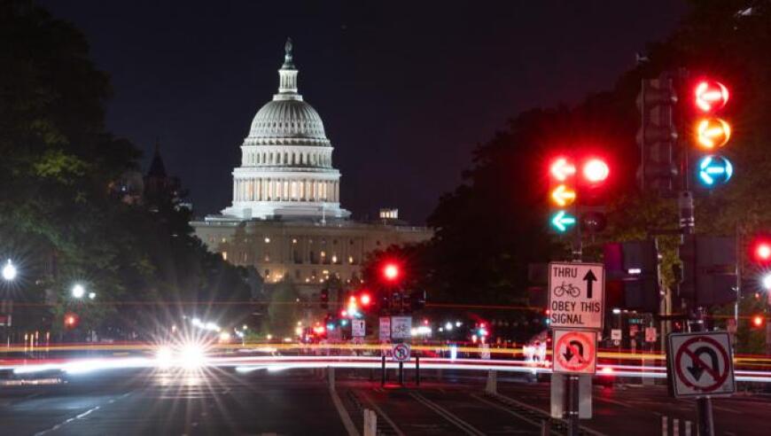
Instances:
[[[233,202],[191,226],[214,253],[253,266],[273,283],[318,284],[360,276],[368,253],[417,243],[432,230],[411,227],[397,209],[377,222],[355,222],[340,206],[340,172],[315,109],[298,93],[292,42],[284,47],[278,93],[254,116],[233,170]]]

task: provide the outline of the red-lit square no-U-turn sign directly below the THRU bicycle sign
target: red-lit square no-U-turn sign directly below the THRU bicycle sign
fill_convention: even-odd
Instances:
[[[554,331],[554,372],[594,374],[597,366],[596,331]]]

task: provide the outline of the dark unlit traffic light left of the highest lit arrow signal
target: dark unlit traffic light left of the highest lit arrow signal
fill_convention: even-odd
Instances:
[[[669,193],[674,189],[678,174],[674,160],[676,104],[674,83],[668,74],[642,80],[642,90],[637,96],[637,108],[642,115],[642,126],[637,132],[641,158],[637,177],[642,190]]]

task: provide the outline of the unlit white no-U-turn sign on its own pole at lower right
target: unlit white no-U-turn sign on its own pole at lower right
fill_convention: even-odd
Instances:
[[[701,397],[736,392],[731,341],[726,331],[669,335],[667,361],[674,396]]]

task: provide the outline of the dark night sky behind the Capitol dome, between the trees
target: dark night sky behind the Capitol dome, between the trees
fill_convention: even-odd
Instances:
[[[230,205],[239,146],[292,36],[343,206],[356,218],[397,206],[416,223],[507,118],[609,89],[687,11],[684,0],[39,3],[87,35],[113,80],[108,128],[145,166],[159,138],[196,214]]]

